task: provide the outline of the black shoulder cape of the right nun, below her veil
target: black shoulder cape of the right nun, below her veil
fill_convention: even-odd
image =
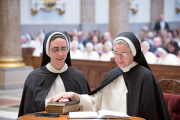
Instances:
[[[149,69],[141,65],[136,65],[124,73],[119,67],[114,68],[105,75],[99,87],[89,95],[95,94],[121,75],[128,89],[128,115],[142,117],[146,120],[171,120],[158,81]]]

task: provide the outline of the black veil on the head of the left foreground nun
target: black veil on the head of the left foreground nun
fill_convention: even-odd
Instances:
[[[46,34],[45,38],[44,38],[44,42],[43,42],[43,56],[42,56],[42,62],[41,62],[41,66],[45,66],[50,62],[50,57],[46,54],[46,44],[47,44],[47,40],[48,38],[55,32],[59,32],[59,34],[63,34],[64,36],[66,36],[65,33],[63,33],[62,31],[51,31],[49,33]],[[52,37],[52,36],[51,36]],[[68,39],[68,37],[66,36],[66,38]],[[69,39],[68,39],[69,41]],[[69,44],[69,43],[67,43]],[[70,46],[70,45],[69,45]],[[67,54],[67,58],[65,60],[65,63],[68,66],[71,66],[71,57],[70,57],[70,51],[68,51]]]

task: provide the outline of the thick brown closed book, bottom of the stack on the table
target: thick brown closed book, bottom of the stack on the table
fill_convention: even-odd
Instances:
[[[60,115],[64,115],[75,111],[79,111],[79,104],[72,104],[67,106],[46,106],[47,113],[58,113]]]

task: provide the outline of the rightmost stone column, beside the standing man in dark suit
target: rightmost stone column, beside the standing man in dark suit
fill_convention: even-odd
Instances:
[[[151,0],[151,30],[154,29],[160,14],[164,14],[164,0]]]

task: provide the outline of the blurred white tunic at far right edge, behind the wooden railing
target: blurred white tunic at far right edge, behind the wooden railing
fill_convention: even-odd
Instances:
[[[171,53],[168,53],[165,58],[159,58],[157,64],[180,65],[180,62],[179,62],[178,58],[175,55],[173,55]]]

